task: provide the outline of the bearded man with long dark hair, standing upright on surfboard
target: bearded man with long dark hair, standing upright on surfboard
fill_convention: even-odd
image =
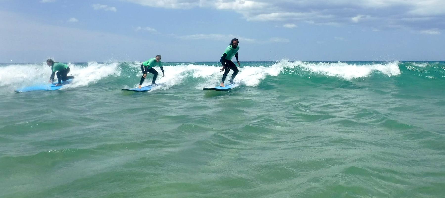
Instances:
[[[231,61],[231,59],[235,55],[236,63],[238,63],[238,66],[239,66],[238,43],[239,43],[238,39],[236,39],[236,38],[232,39],[232,41],[230,42],[230,45],[227,46],[226,51],[224,51],[223,56],[221,57],[221,59],[219,59],[219,62],[221,62],[221,65],[223,65],[223,68],[221,68],[220,72],[223,72],[224,70],[226,70],[223,74],[223,80],[221,81],[221,85],[220,85],[221,87],[225,87],[224,81],[226,80],[227,74],[229,74],[229,69],[233,70],[232,77],[230,78],[230,81],[229,81],[230,84],[233,84],[233,79],[235,79],[236,74],[238,74],[238,68],[236,67],[235,63],[233,63]]]

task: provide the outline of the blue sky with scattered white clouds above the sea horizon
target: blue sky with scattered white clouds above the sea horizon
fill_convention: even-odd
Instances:
[[[0,0],[0,62],[445,60],[445,0]]]

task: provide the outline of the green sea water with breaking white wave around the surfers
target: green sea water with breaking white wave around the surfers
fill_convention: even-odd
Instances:
[[[121,91],[140,64],[69,63],[72,84],[25,93],[46,63],[0,64],[0,197],[445,194],[445,62],[241,62],[225,92],[202,90],[218,62],[165,62],[161,87]]]

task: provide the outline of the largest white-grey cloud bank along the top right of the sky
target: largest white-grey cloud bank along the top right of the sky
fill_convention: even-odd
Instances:
[[[232,10],[247,21],[343,26],[359,23],[379,29],[444,29],[445,0],[125,0],[158,8]],[[372,16],[372,17],[371,17]],[[411,18],[412,20],[407,20]],[[418,19],[416,19],[418,18]],[[413,21],[414,20],[414,21]],[[424,21],[424,23],[416,22]]]

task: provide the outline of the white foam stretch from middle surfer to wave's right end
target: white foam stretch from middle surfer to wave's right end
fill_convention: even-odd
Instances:
[[[267,63],[266,63],[267,64]],[[239,73],[235,78],[235,84],[243,84],[245,86],[257,86],[267,76],[278,76],[285,68],[301,69],[309,72],[315,72],[327,76],[336,76],[344,79],[363,78],[368,77],[374,71],[379,71],[387,76],[394,76],[401,73],[398,62],[388,62],[386,64],[369,64],[369,65],[355,65],[345,62],[288,62],[287,60],[276,62],[271,66],[243,66],[239,67]],[[161,71],[156,68],[159,75]],[[179,65],[179,66],[164,66],[166,76],[157,80],[156,83],[162,83],[162,87],[158,89],[168,89],[171,86],[185,83],[186,78],[196,78],[201,81],[196,86],[196,89],[202,87],[217,86],[221,82],[222,72],[219,72],[220,66],[207,65]],[[298,72],[297,72],[298,73]],[[140,78],[140,74],[136,74]],[[232,71],[227,75],[226,82],[230,79]],[[135,78],[137,78],[135,76]],[[143,86],[149,85],[151,78],[147,78]],[[137,86],[137,85],[135,85]]]

